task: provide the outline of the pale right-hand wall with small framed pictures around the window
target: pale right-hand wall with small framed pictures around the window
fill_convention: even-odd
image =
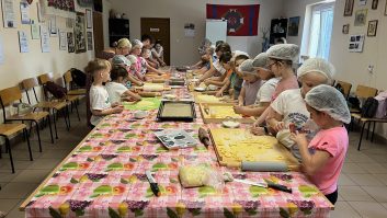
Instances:
[[[319,0],[286,0],[284,13],[286,16],[300,15],[300,32],[304,25],[306,5]],[[368,0],[365,7],[358,5],[356,0],[352,16],[343,16],[344,0],[337,0],[334,4],[333,32],[331,41],[330,61],[337,69],[335,79],[353,84],[352,92],[357,84],[374,87],[379,90],[387,90],[387,16],[384,15],[386,0],[379,0],[377,10],[371,9],[372,1]],[[354,26],[354,14],[358,9],[368,9],[366,25]],[[351,34],[367,34],[368,21],[378,20],[376,37],[365,37],[363,53],[349,53],[349,37]],[[342,26],[350,24],[350,33],[342,34]],[[305,41],[303,34],[298,37],[289,37],[288,42],[299,44]],[[368,65],[374,65],[374,72],[367,71]],[[387,138],[387,125],[378,125],[377,134]]]

